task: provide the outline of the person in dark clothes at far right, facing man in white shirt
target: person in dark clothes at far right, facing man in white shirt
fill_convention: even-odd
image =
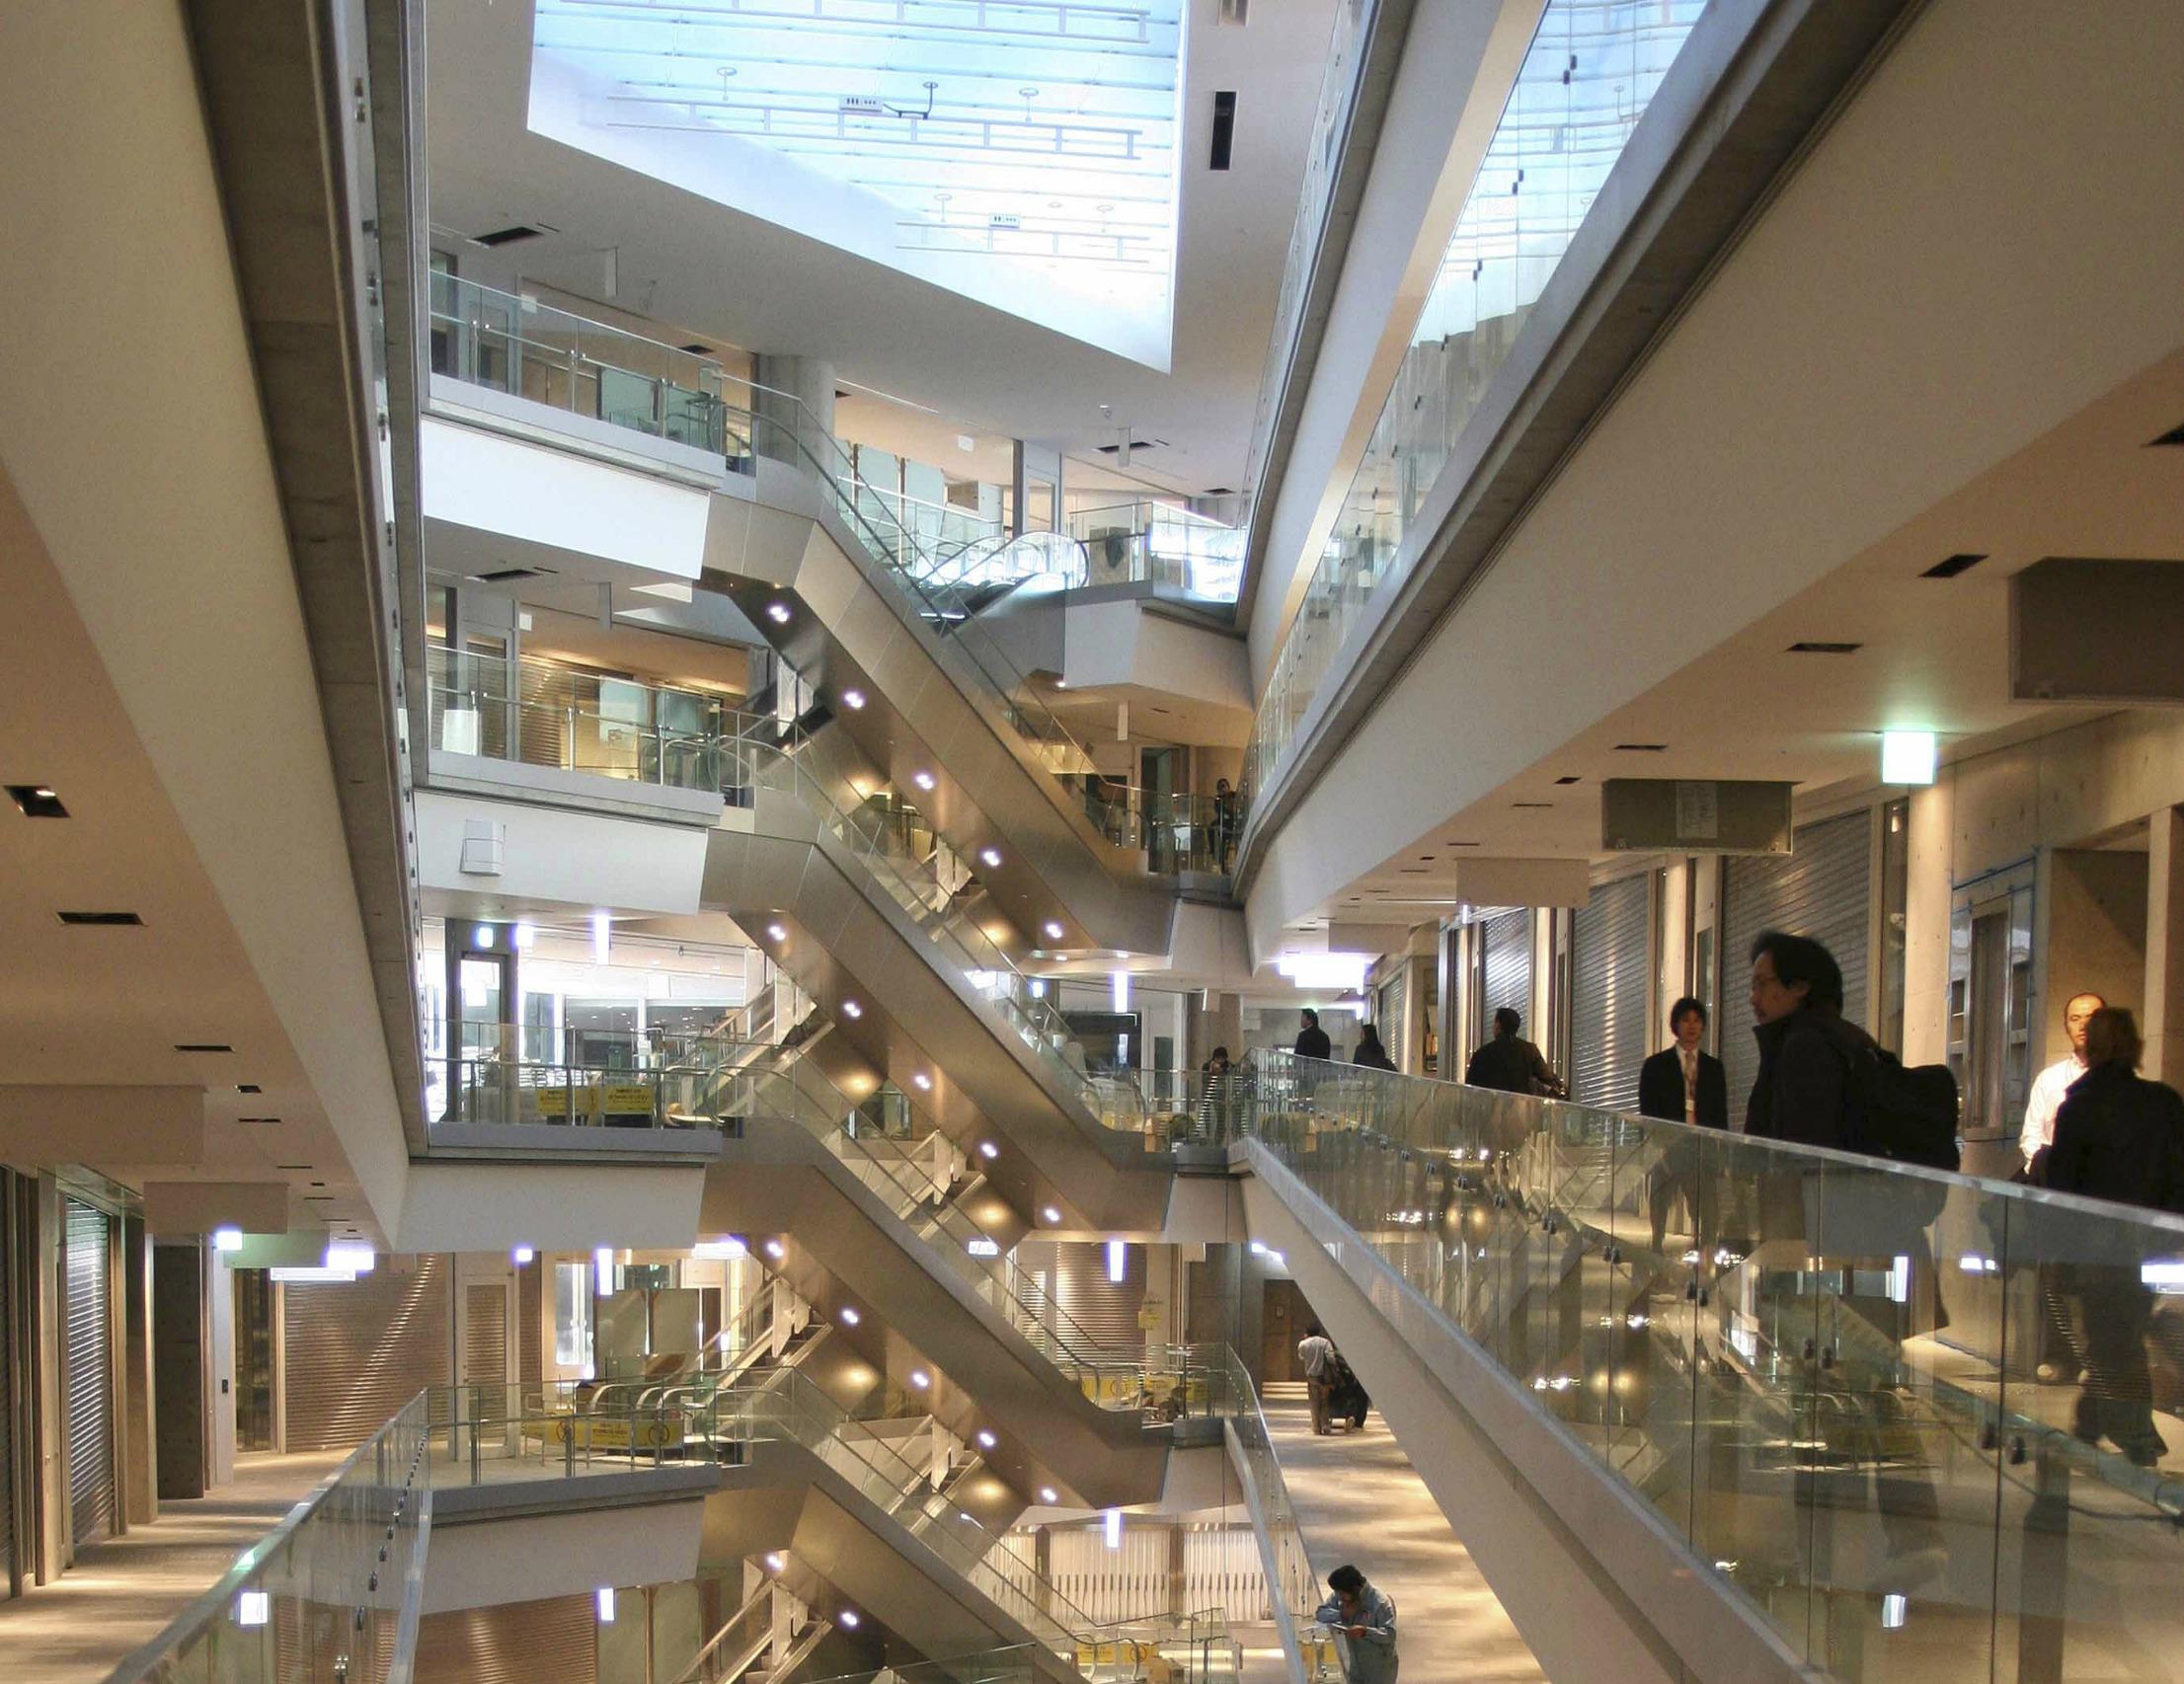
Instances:
[[[2123,1007],[2101,1007],[2086,1022],[2086,1075],[2055,1112],[2046,1184],[2090,1199],[2184,1212],[2184,1096],[2138,1075],[2138,1024]],[[2070,1265],[2086,1328],[2086,1391],[2070,1428],[2086,1444],[2110,1439],[2140,1468],[2169,1446],[2153,1431],[2147,1376],[2147,1324],[2153,1293],[2140,1280],[2129,1230],[2105,1234],[2084,1223],[2079,1249],[2112,1256]]]

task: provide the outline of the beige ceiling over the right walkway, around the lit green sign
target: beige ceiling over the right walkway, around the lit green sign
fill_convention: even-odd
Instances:
[[[1887,727],[1939,732],[1948,764],[2112,712],[2009,699],[2009,574],[2049,555],[2184,561],[2184,450],[2147,448],[2180,419],[2184,354],[1704,649],[1485,799],[1393,847],[1308,920],[1361,911],[1404,924],[1439,917],[1455,904],[1448,867],[1468,854],[1605,858],[1603,778],[1791,780],[1797,802],[1813,806],[1878,784],[1878,734]],[[1920,577],[1959,553],[1987,559],[1955,579]],[[1701,614],[1693,603],[1695,627]],[[1787,653],[1802,640],[1863,649]],[[1618,751],[1621,743],[1666,749]]]

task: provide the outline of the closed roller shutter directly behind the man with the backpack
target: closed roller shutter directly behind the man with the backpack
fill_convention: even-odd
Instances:
[[[1723,865],[1721,1062],[1730,1077],[1734,1127],[1743,1127],[1745,1101],[1760,1068],[1745,954],[1762,930],[1811,935],[1843,968],[1843,1016],[1865,1022],[1872,878],[1870,813],[1797,826],[1789,856],[1732,858]]]

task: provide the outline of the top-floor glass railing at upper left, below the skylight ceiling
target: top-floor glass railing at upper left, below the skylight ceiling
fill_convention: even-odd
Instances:
[[[432,373],[749,461],[749,398],[708,356],[435,273]],[[740,402],[734,402],[740,400]]]

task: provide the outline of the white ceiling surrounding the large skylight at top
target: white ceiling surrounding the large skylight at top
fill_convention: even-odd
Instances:
[[[526,129],[529,0],[428,13],[430,218],[548,225],[498,269],[928,404],[957,430],[1092,456],[1123,424],[1131,472],[1177,491],[1243,478],[1332,0],[1258,0],[1245,28],[1190,0],[1182,234],[1168,373],[1094,349]],[[1234,166],[1206,168],[1214,90],[1236,90]],[[465,247],[480,275],[496,260]],[[1105,406],[1105,408],[1103,408]]]

